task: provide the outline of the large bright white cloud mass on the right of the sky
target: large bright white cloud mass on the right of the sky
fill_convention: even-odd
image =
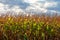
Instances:
[[[41,2],[41,1],[45,1],[45,2]],[[30,2],[30,1],[27,1],[27,2]],[[47,8],[56,7],[56,6],[57,6],[57,2],[48,2],[47,0],[37,0],[33,3],[30,3],[30,6],[26,8],[26,11],[46,13],[46,12],[50,12],[50,10],[48,10]]]

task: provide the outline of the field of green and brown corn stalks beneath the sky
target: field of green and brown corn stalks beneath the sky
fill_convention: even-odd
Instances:
[[[60,16],[0,17],[0,40],[60,40]]]

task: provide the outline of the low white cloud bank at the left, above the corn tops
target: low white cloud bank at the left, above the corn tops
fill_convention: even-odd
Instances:
[[[18,5],[15,5],[11,8],[9,8],[10,5],[0,3],[0,14],[6,14],[7,12],[14,12],[16,14],[19,14],[19,12],[24,12]],[[13,14],[13,13],[12,13]]]

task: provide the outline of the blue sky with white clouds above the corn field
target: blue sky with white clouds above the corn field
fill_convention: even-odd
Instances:
[[[60,13],[60,0],[0,0],[0,13]]]

